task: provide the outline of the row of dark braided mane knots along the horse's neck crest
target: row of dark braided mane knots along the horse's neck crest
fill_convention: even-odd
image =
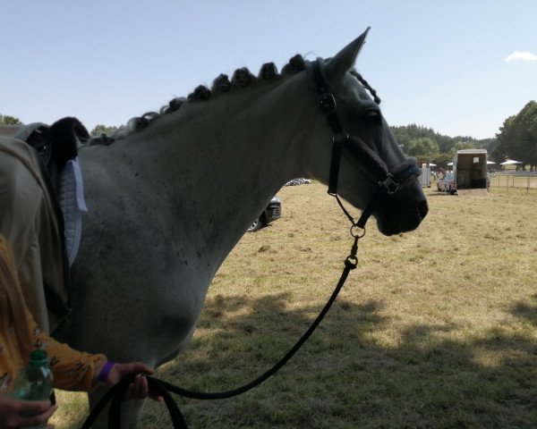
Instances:
[[[284,65],[280,73],[278,73],[275,63],[264,63],[257,76],[253,75],[246,67],[235,70],[231,80],[226,74],[222,73],[213,80],[211,88],[200,85],[187,97],[175,97],[170,100],[167,105],[160,108],[159,112],[148,112],[141,116],[133,117],[125,125],[122,125],[118,130],[115,130],[111,138],[100,136],[91,139],[90,144],[108,145],[114,140],[126,139],[132,135],[132,133],[144,130],[150,123],[157,121],[160,117],[178,111],[185,104],[209,101],[210,99],[227,92],[234,92],[234,90],[237,89],[251,87],[260,81],[279,80],[279,78],[305,70],[305,63],[303,55],[297,54],[289,60],[289,63]]]

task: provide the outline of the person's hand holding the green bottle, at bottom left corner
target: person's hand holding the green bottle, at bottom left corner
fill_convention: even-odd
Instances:
[[[15,400],[0,397],[0,429],[43,425],[56,409],[57,406],[52,405],[49,400]],[[46,427],[52,429],[54,426]]]

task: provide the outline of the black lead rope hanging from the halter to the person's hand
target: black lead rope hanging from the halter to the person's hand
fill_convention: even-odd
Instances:
[[[353,227],[356,226],[353,222]],[[162,396],[165,400],[166,407],[168,408],[168,411],[170,413],[170,416],[172,418],[172,423],[174,425],[174,429],[188,429],[186,422],[184,421],[183,414],[181,413],[181,410],[177,406],[175,400],[170,395],[171,393],[175,393],[177,395],[183,396],[185,398],[190,398],[192,400],[224,400],[227,398],[232,398],[234,396],[240,395],[244,393],[245,391],[250,391],[254,387],[257,387],[260,385],[260,383],[263,383],[265,380],[267,380],[271,375],[276,374],[277,371],[291,359],[291,357],[294,356],[294,354],[303,346],[303,343],[306,342],[311,334],[315,331],[317,326],[319,326],[320,322],[324,318],[325,315],[327,315],[328,310],[330,307],[332,307],[332,304],[337,299],[337,295],[339,294],[339,291],[343,287],[345,280],[351,270],[354,270],[356,268],[356,265],[358,265],[358,240],[362,238],[363,234],[356,234],[353,233],[354,236],[354,243],[351,248],[351,252],[348,257],[345,258],[345,268],[343,269],[343,273],[341,273],[341,277],[339,278],[339,282],[337,282],[336,288],[332,292],[332,295],[328,299],[328,302],[325,304],[325,306],[320,311],[320,314],[317,316],[317,318],[313,321],[313,323],[310,325],[308,330],[303,333],[303,336],[296,341],[293,348],[290,349],[284,357],[282,357],[275,366],[272,366],[266,373],[261,374],[258,378],[253,380],[251,383],[246,383],[243,386],[231,390],[231,391],[222,391],[222,392],[216,392],[216,393],[209,393],[209,392],[202,392],[202,391],[189,391],[186,389],[183,389],[181,387],[175,386],[171,383],[163,382],[162,380],[158,380],[158,378],[155,377],[149,377],[147,376],[149,390],[156,394],[157,396]],[[121,429],[121,405],[122,400],[124,398],[125,391],[127,390],[130,383],[132,383],[133,380],[132,377],[127,377],[124,380],[122,380],[120,383],[115,384],[112,388],[110,388],[109,391],[101,398],[101,400],[98,401],[98,404],[93,408],[93,410],[90,413],[90,416],[86,419],[84,424],[81,426],[81,429],[90,429],[91,425],[94,424],[95,420],[97,419],[98,415],[102,412],[102,410],[107,406],[108,402],[111,402],[110,408],[108,409],[108,428],[110,429]]]

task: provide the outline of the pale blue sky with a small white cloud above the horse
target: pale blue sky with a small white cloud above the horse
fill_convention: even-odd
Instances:
[[[536,0],[0,0],[0,114],[119,126],[218,74],[356,63],[390,125],[493,138],[537,99]]]

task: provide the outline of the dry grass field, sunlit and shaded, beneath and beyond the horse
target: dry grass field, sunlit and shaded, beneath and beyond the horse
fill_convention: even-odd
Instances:
[[[537,192],[425,189],[430,214],[385,237],[370,221],[359,266],[311,340],[231,400],[178,399],[191,429],[537,427]],[[352,240],[318,183],[278,193],[283,217],[246,234],[217,273],[192,348],[158,371],[224,391],[274,364],[330,295]],[[79,395],[59,396],[77,427]],[[69,407],[71,406],[71,407]],[[171,428],[150,402],[143,428]]]

